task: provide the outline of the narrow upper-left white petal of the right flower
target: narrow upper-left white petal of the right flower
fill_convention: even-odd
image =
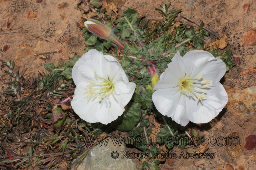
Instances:
[[[161,74],[154,90],[178,86],[178,82],[185,76],[186,71],[182,60],[178,51],[172,58],[172,62],[168,64],[168,68]]]

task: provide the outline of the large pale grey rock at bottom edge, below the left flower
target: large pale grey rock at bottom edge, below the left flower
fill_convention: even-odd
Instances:
[[[118,158],[111,157],[113,151],[119,153]],[[124,145],[114,147],[112,140],[109,139],[106,147],[102,144],[102,146],[97,145],[91,149],[84,161],[78,166],[78,170],[137,170],[136,165],[130,158],[125,156],[121,158],[121,151],[125,152]]]

